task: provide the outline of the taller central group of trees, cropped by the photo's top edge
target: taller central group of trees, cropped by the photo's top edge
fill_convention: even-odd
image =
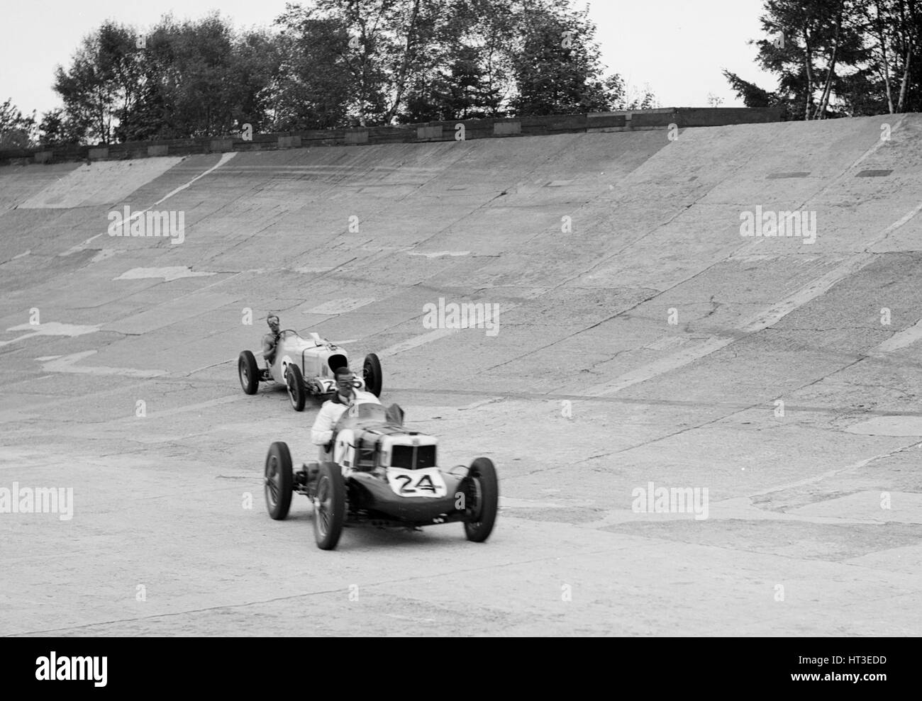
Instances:
[[[277,24],[280,114],[321,95],[342,104],[334,86],[361,125],[605,111],[618,97],[570,0],[314,0]]]

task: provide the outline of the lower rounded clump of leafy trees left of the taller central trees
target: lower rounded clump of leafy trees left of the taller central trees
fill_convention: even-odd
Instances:
[[[274,37],[239,33],[218,13],[182,24],[168,15],[144,33],[106,22],[58,66],[54,89],[81,140],[225,135],[266,128],[279,63]]]

